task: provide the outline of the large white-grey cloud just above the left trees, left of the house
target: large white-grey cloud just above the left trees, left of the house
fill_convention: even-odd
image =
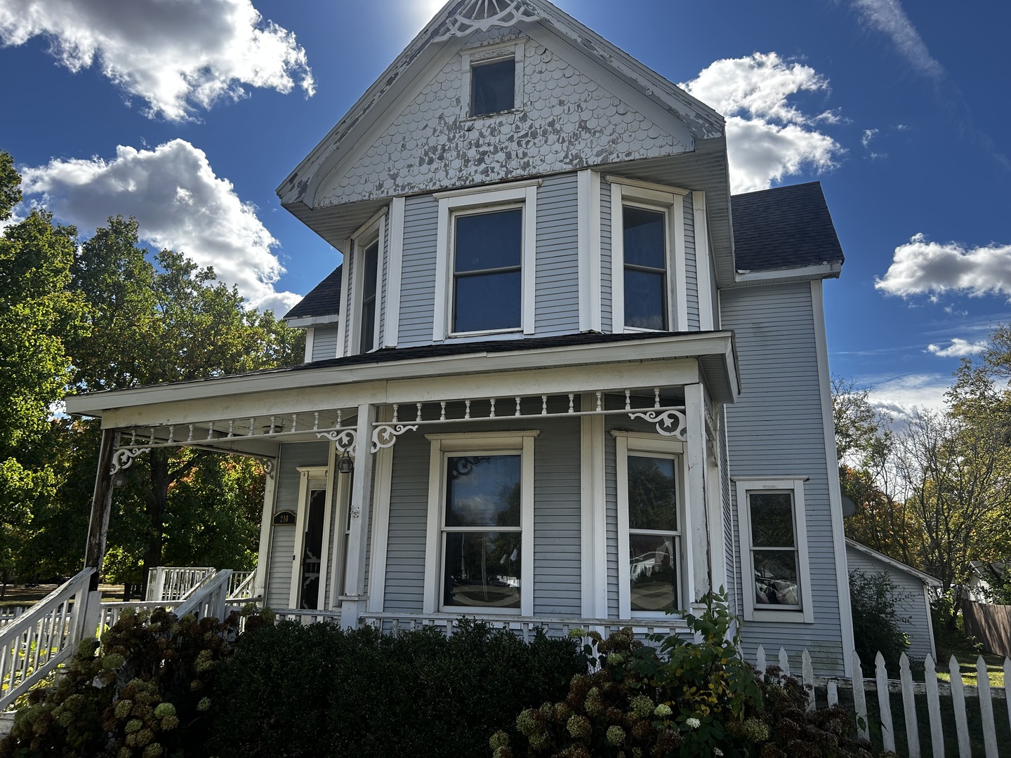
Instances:
[[[42,194],[60,219],[82,231],[116,213],[133,216],[144,240],[213,266],[218,279],[238,285],[255,307],[281,315],[300,298],[274,289],[284,273],[272,252],[278,242],[256,208],[184,139],[153,151],[119,146],[111,161],[54,160],[21,169],[21,176],[25,195]]]

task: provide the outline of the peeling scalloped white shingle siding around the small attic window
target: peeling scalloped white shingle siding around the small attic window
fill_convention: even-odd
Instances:
[[[491,43],[489,45],[489,42]],[[470,58],[516,52],[516,108],[471,117]],[[476,32],[431,81],[323,180],[316,207],[541,176],[693,147],[679,121],[633,104],[552,49],[516,29]],[[617,89],[617,88],[615,88]],[[658,109],[656,109],[658,110]]]

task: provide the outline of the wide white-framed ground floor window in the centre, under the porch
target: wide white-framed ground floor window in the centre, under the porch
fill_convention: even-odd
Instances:
[[[426,612],[533,613],[537,434],[429,435]]]

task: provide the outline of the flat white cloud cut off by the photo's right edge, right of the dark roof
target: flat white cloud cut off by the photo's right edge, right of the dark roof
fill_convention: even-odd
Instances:
[[[892,295],[931,294],[949,290],[969,295],[1003,294],[1011,298],[1011,245],[967,250],[957,243],[931,243],[922,233],[895,249],[892,265],[875,287]]]

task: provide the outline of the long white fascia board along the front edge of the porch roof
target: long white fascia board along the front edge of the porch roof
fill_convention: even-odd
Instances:
[[[75,415],[95,415],[96,411],[112,408],[150,405],[156,402],[220,398],[249,392],[302,389],[367,381],[435,378],[453,374],[523,371],[555,366],[588,366],[627,361],[639,362],[726,355],[727,348],[732,344],[732,331],[714,331],[698,336],[678,335],[618,343],[514,350],[505,353],[475,351],[455,356],[363,363],[351,366],[327,366],[295,370],[277,369],[264,373],[240,374],[192,382],[155,384],[133,389],[70,395],[67,397],[67,412]]]

